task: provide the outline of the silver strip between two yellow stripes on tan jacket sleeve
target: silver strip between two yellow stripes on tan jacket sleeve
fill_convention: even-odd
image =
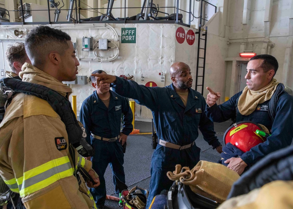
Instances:
[[[71,166],[71,163],[70,162],[67,162],[65,164],[62,164],[62,165],[58,165],[56,167],[53,167],[45,172],[42,172],[36,176],[33,176],[29,179],[26,179],[22,182],[22,184],[18,185],[18,188],[19,190],[22,190],[22,189],[25,189],[25,188],[28,188],[29,186],[32,186],[40,181],[43,181],[55,174],[58,174],[60,172],[63,172],[63,171],[66,171],[68,169],[71,169],[72,166]]]

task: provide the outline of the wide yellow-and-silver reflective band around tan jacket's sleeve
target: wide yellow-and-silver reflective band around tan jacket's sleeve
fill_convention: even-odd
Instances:
[[[24,197],[71,175],[73,175],[72,166],[66,156],[46,162],[24,172],[22,177],[10,179],[5,183],[11,191],[19,192],[20,196]]]

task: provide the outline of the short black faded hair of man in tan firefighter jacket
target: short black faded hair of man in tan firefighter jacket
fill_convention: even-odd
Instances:
[[[32,65],[42,69],[46,62],[46,56],[51,52],[57,52],[61,56],[69,49],[67,41],[71,37],[49,26],[41,25],[31,30],[25,39],[25,50]]]

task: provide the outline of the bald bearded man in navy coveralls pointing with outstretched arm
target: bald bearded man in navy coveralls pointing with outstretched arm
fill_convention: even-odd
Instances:
[[[173,181],[166,173],[176,164],[193,168],[200,160],[200,148],[195,145],[198,129],[205,141],[222,152],[214,132],[214,124],[205,113],[205,99],[191,89],[190,68],[183,62],[176,62],[170,68],[173,83],[166,87],[146,87],[134,81],[117,76],[95,74],[97,85],[112,83],[117,94],[134,99],[148,107],[153,114],[159,144],[151,159],[151,180],[147,207],[163,189],[170,189]]]

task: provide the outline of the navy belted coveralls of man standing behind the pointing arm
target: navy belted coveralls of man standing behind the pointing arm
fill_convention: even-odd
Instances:
[[[97,207],[105,204],[106,186],[104,174],[109,163],[113,172],[116,194],[119,195],[122,190],[127,189],[127,186],[125,185],[124,154],[121,143],[118,140],[115,142],[102,141],[93,138],[91,133],[105,138],[117,137],[120,133],[122,113],[124,114],[124,124],[121,132],[129,135],[133,130],[133,115],[126,98],[110,90],[110,102],[107,108],[95,91],[84,100],[81,106],[79,118],[86,129],[86,141],[92,145],[95,151],[92,156],[93,169],[100,179],[100,186],[96,189],[90,188]]]

